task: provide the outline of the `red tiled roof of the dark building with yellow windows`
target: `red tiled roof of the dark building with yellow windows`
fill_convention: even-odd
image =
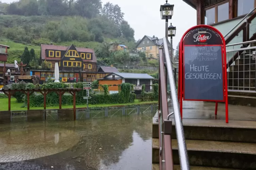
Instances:
[[[67,46],[59,46],[59,45],[47,45],[47,44],[41,44],[41,59],[42,60],[55,60],[55,61],[60,61],[61,58],[53,58],[53,57],[46,57],[46,50],[60,50],[60,51],[67,51],[69,47]],[[78,52],[90,52],[92,53],[92,60],[84,60],[84,62],[93,62],[96,63],[96,55],[94,52],[94,49],[91,48],[81,48],[81,47],[75,47]]]

